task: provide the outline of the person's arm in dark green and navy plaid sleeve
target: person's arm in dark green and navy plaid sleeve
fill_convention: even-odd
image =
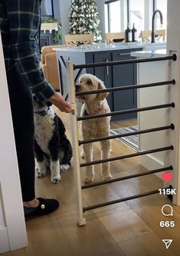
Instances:
[[[44,100],[54,95],[40,67],[37,42],[40,24],[39,0],[7,0],[7,15],[11,32],[11,54],[31,91]]]

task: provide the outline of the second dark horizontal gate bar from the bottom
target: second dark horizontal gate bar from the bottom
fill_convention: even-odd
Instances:
[[[82,189],[93,188],[93,187],[97,187],[97,186],[100,186],[100,185],[113,183],[113,182],[116,182],[116,181],[124,181],[124,180],[127,180],[129,178],[137,178],[137,177],[141,177],[141,176],[145,176],[145,175],[152,175],[154,173],[158,173],[158,172],[162,172],[162,171],[168,171],[168,170],[173,170],[172,165],[170,165],[168,167],[165,167],[165,168],[155,169],[155,170],[152,170],[152,171],[143,171],[143,172],[141,172],[139,174],[136,174],[136,175],[127,175],[127,176],[120,177],[120,178],[113,178],[112,180],[108,180],[108,181],[99,181],[99,182],[96,182],[96,183],[93,183],[93,184],[86,184],[86,185],[83,185],[81,188]]]

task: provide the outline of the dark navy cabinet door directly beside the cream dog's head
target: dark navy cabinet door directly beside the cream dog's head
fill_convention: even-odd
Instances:
[[[94,61],[94,63],[110,62],[111,61],[111,54],[110,54],[110,52],[94,53],[93,61]],[[103,81],[106,88],[112,87],[112,68],[111,68],[111,66],[94,68],[94,75],[96,75],[97,78],[100,78],[100,80]],[[110,94],[107,96],[106,100],[107,100],[108,104],[110,105],[111,111],[113,111],[113,95],[112,95],[112,92],[110,92]]]

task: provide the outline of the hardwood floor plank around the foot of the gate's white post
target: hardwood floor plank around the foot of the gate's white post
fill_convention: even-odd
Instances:
[[[56,218],[75,255],[126,255],[93,211],[87,212],[87,224],[83,227],[78,227],[76,224],[76,211],[73,204],[67,205],[62,211],[56,213]]]

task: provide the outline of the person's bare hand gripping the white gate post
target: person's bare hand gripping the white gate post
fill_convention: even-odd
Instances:
[[[72,111],[70,102],[64,100],[59,92],[55,92],[50,98],[48,98],[52,104],[59,108],[62,112],[70,113]]]

